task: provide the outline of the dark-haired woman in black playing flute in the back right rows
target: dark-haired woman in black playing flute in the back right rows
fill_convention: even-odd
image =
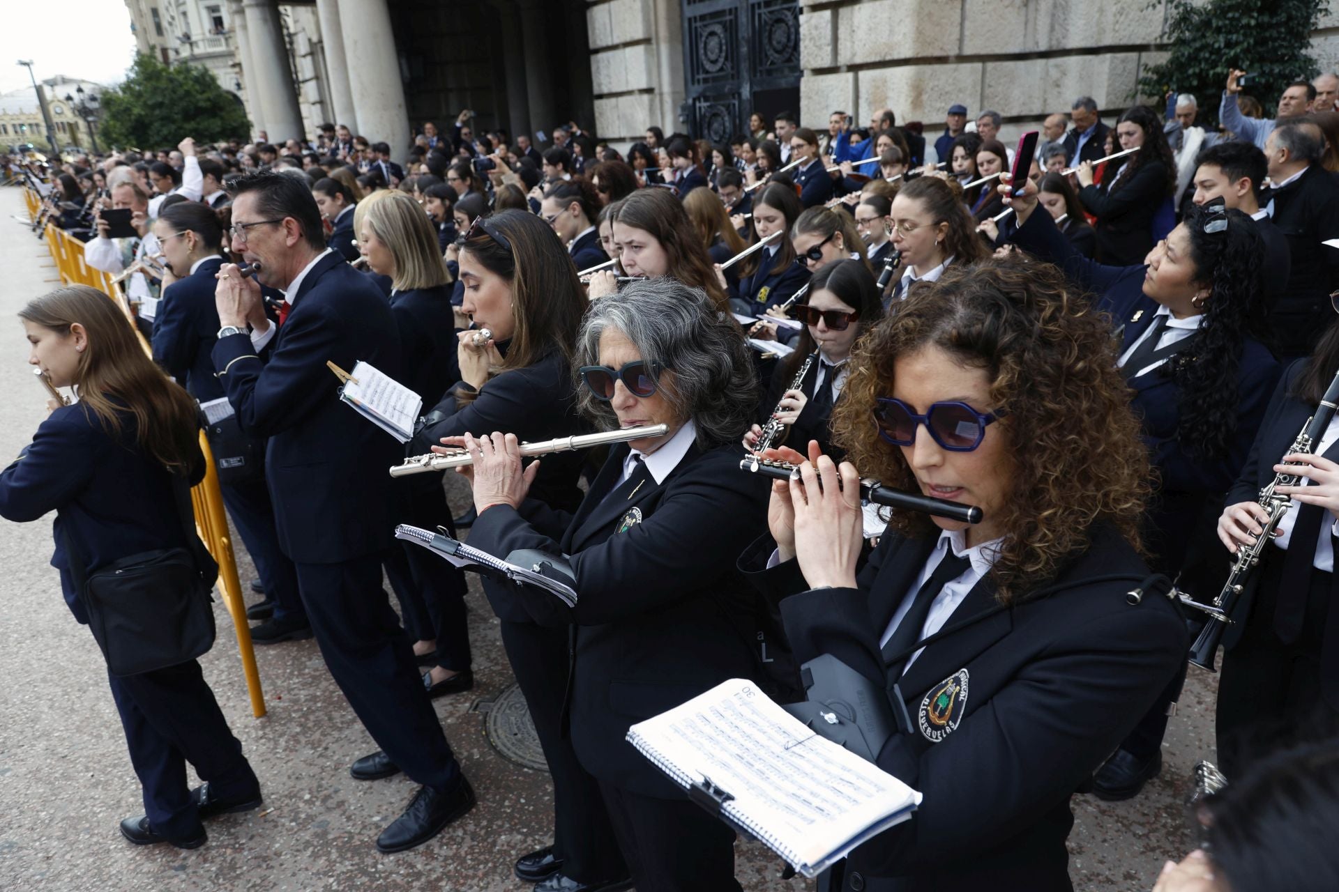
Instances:
[[[1097,259],[1101,263],[1129,266],[1138,263],[1153,247],[1153,223],[1176,191],[1176,160],[1162,120],[1145,106],[1134,106],[1121,115],[1115,126],[1121,146],[1117,151],[1138,148],[1117,162],[1110,162],[1097,186],[1093,162],[1079,164],[1079,201],[1097,217]],[[1166,231],[1166,230],[1162,230]]]

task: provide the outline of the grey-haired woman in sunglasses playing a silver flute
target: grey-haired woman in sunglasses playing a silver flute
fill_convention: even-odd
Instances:
[[[636,282],[592,304],[577,338],[578,408],[605,429],[665,424],[619,444],[574,515],[526,501],[513,435],[477,453],[470,544],[569,555],[578,600],[485,580],[536,622],[576,627],[570,744],[596,777],[643,891],[738,891],[734,832],[625,741],[628,726],[727,678],[758,677],[751,595],[735,558],[762,532],[767,487],[739,472],[758,403],[743,338],[699,289]],[[497,588],[494,591],[493,588]],[[592,887],[600,888],[600,887]]]

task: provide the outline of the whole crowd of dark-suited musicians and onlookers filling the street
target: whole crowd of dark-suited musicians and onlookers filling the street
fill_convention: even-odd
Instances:
[[[541,151],[462,111],[403,150],[325,126],[54,166],[47,219],[123,278],[157,366],[92,289],[28,304],[29,361],[78,401],[0,473],[0,515],[58,512],[86,621],[76,580],[190,538],[194,403],[226,408],[212,443],[252,456],[221,473],[252,639],[315,637],[379,746],[352,776],[418,785],[383,852],[475,801],[431,706],[474,683],[466,580],[394,540],[408,523],[569,562],[574,606],[483,582],[553,780],[553,844],[514,865],[544,892],[739,889],[734,829],[628,728],[728,678],[802,699],[823,654],[909,715],[877,764],[924,801],[821,888],[1070,889],[1073,796],[1127,800],[1162,768],[1209,622],[1178,592],[1214,602],[1272,522],[1260,491],[1300,467],[1224,641],[1228,786],[1156,881],[1277,888],[1280,857],[1288,888],[1334,888],[1323,847],[1283,847],[1339,804],[1316,734],[1339,713],[1339,420],[1297,436],[1339,372],[1339,78],[1265,119],[1243,74],[1217,130],[1186,94],[1111,123],[1081,96],[1032,158],[1000,112],[953,104],[937,135],[881,108],[754,115],[730,144],[648,127],[624,151],[568,123]],[[327,364],[359,361],[422,400],[408,443],[340,405]],[[459,518],[438,476],[387,475],[462,449]],[[747,455],[794,473],[769,485]],[[984,519],[861,503],[862,477]],[[258,805],[198,663],[111,685],[145,789],[131,843],[193,848]]]

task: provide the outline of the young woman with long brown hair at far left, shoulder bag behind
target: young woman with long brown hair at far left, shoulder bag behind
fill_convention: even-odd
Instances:
[[[63,288],[29,301],[19,318],[28,362],[54,385],[74,388],[79,401],[52,401],[32,443],[0,472],[0,515],[25,522],[56,512],[52,564],[71,612],[87,623],[76,580],[161,548],[202,551],[177,492],[205,475],[198,409],[145,354],[106,294]],[[198,570],[202,583],[213,583],[209,567]],[[143,788],[146,814],[121,822],[127,840],[197,848],[204,818],[260,805],[260,782],[197,661],[108,673],[108,682]],[[205,781],[194,790],[187,761]]]

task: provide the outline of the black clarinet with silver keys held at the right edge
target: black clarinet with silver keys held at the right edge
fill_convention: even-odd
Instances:
[[[1326,428],[1330,427],[1330,420],[1334,417],[1336,405],[1339,405],[1339,373],[1330,381],[1330,388],[1320,397],[1316,413],[1302,425],[1302,432],[1297,433],[1297,439],[1292,441],[1285,455],[1311,455],[1315,452],[1320,444],[1320,437],[1326,433]],[[1232,572],[1228,575],[1228,582],[1223,586],[1223,591],[1218,592],[1212,604],[1201,604],[1188,595],[1181,595],[1181,603],[1186,607],[1194,607],[1209,614],[1209,622],[1205,623],[1200,637],[1194,639],[1194,646],[1190,647],[1189,661],[1192,665],[1210,673],[1217,671],[1213,666],[1213,659],[1218,653],[1218,642],[1223,641],[1223,633],[1227,631],[1228,623],[1235,622],[1232,614],[1241,595],[1245,592],[1255,568],[1260,564],[1260,555],[1264,554],[1264,550],[1273,540],[1275,528],[1277,528],[1279,522],[1283,520],[1292,506],[1292,499],[1279,493],[1277,488],[1299,485],[1302,476],[1300,473],[1279,472],[1275,475],[1273,481],[1260,491],[1259,504],[1269,515],[1269,519],[1260,524],[1263,531],[1255,538],[1255,542],[1249,546],[1237,547],[1237,556],[1232,562]]]

